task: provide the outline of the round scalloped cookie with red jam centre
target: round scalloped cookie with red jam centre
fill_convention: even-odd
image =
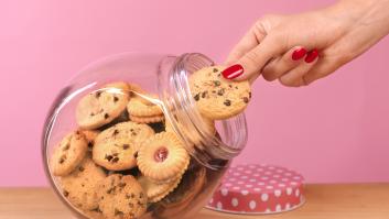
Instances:
[[[186,171],[190,155],[174,133],[161,132],[142,144],[137,161],[145,177],[154,183],[168,183]]]

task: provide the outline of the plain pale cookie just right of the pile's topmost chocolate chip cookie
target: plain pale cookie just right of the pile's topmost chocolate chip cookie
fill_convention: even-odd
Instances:
[[[127,105],[127,111],[134,117],[153,117],[161,116],[162,109],[158,105],[145,105],[141,101],[142,98],[131,98]]]

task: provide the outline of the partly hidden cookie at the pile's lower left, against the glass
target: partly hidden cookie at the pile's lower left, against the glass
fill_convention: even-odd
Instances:
[[[75,207],[93,210],[98,207],[96,189],[98,183],[106,178],[101,167],[86,156],[69,175],[61,177],[63,195]]]

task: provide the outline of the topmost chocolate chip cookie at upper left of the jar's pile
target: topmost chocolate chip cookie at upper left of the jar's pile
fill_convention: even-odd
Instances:
[[[114,121],[126,110],[129,94],[118,88],[102,88],[83,97],[76,107],[82,129],[97,129]]]

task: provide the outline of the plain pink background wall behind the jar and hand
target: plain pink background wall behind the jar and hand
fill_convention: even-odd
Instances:
[[[331,2],[2,0],[0,186],[46,185],[44,117],[87,63],[126,51],[202,52],[223,62],[261,15]],[[247,110],[250,140],[236,162],[284,165],[311,183],[389,182],[388,48],[387,37],[307,88],[259,80]]]

